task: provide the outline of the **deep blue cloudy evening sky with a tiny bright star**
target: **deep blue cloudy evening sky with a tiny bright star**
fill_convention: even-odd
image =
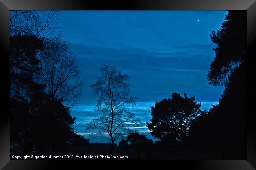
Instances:
[[[85,124],[97,115],[90,85],[102,64],[131,76],[131,95],[140,98],[133,112],[141,118],[139,133],[152,139],[145,122],[150,106],[171,93],[195,95],[203,110],[217,104],[224,87],[208,85],[207,73],[215,57],[211,30],[220,28],[227,11],[63,11],[65,39],[75,45],[80,78],[80,103],[72,110],[78,134],[89,138]],[[108,142],[97,137],[91,142]]]

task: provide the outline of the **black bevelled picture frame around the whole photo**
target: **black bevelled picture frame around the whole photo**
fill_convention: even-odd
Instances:
[[[256,2],[255,0],[122,0],[119,2],[98,0],[0,0],[0,42],[2,47],[0,86],[2,110],[0,116],[0,168],[14,169],[76,169],[86,166],[84,161],[45,161],[10,160],[10,115],[9,115],[9,11],[14,9],[152,9],[152,10],[226,10],[239,9],[247,12],[247,51],[246,51],[246,159],[245,160],[181,160],[165,161],[169,166],[178,165],[179,169],[196,170],[255,170],[256,169],[256,124],[254,123],[254,101],[256,84],[254,82],[254,62],[256,52]],[[5,109],[3,109],[5,108]],[[94,163],[95,164],[95,163]],[[145,163],[145,164],[152,164]],[[95,165],[97,166],[97,165]],[[131,166],[130,164],[126,166]],[[72,168],[70,168],[72,167]]]

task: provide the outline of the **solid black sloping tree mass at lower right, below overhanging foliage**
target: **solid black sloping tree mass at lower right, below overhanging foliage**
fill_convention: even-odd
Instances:
[[[225,90],[207,114],[191,124],[195,142],[245,142],[245,64],[234,68],[225,82]],[[215,124],[218,124],[216,126]],[[244,146],[241,146],[244,147]]]

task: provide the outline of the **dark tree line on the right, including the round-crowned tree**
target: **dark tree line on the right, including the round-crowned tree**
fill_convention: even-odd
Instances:
[[[213,48],[215,58],[207,78],[210,85],[225,86],[218,104],[206,112],[200,110],[194,97],[173,93],[171,99],[156,101],[152,106],[147,127],[160,143],[227,143],[233,149],[223,149],[224,153],[244,159],[245,22],[245,11],[228,11],[221,29],[210,34],[217,47]]]

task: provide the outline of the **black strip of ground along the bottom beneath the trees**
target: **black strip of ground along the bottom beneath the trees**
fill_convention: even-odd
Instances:
[[[193,159],[229,159],[241,160],[245,159],[245,145],[234,143],[198,143],[198,144],[175,144],[175,145],[157,145],[146,148],[119,148],[116,146],[110,153],[111,144],[107,143],[90,143],[89,146],[72,147],[62,154],[66,155],[62,159],[164,159],[164,160],[193,160]],[[17,151],[11,151],[12,155],[24,155]],[[29,155],[38,155],[32,152]],[[70,157],[72,155],[72,158]],[[98,158],[95,158],[98,156]],[[118,156],[118,158],[117,158]],[[120,158],[120,156],[126,156]],[[49,158],[49,155],[48,155]],[[43,158],[38,158],[43,159]],[[54,160],[54,159],[51,159]],[[60,160],[60,159],[57,159]]]

